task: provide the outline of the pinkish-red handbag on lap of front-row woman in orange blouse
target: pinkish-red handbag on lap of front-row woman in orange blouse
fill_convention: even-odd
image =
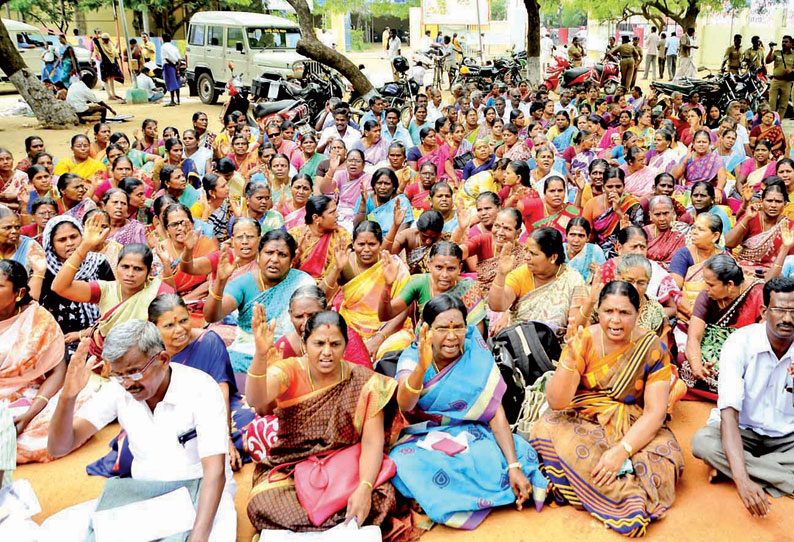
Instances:
[[[279,465],[268,475],[268,482],[276,481],[272,476],[283,468],[295,466],[295,492],[298,501],[309,516],[312,525],[319,527],[335,513],[347,506],[350,496],[358,489],[359,458],[361,443],[333,450],[297,461]],[[378,487],[397,473],[397,465],[386,454],[380,472],[373,484]]]

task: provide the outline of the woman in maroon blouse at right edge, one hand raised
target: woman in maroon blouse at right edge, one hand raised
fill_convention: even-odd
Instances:
[[[738,247],[736,260],[752,275],[759,269],[766,271],[780,249],[781,230],[790,222],[783,216],[788,194],[783,181],[773,181],[761,192],[760,203],[751,201],[749,189],[742,196],[743,209],[736,214],[736,225],[725,234],[725,247]]]

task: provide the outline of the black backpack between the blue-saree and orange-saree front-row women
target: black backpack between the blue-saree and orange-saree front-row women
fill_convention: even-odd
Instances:
[[[543,322],[523,322],[505,328],[491,339],[494,360],[507,385],[502,407],[510,424],[518,420],[527,386],[555,366],[562,349],[557,336]]]

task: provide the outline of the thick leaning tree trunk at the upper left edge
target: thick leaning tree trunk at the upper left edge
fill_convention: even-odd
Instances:
[[[0,6],[4,3],[0,1]],[[0,70],[8,76],[33,110],[36,118],[46,128],[69,128],[78,123],[77,114],[72,106],[56,100],[41,80],[28,70],[2,22],[0,22]]]

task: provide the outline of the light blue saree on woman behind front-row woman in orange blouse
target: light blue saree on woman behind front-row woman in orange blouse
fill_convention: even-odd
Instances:
[[[287,332],[294,329],[289,318],[289,298],[292,293],[301,286],[316,285],[315,280],[297,269],[290,269],[284,280],[268,288],[264,292],[259,292],[256,297],[240,307],[237,313],[237,335],[232,344],[229,345],[229,358],[235,372],[244,373],[251,365],[254,357],[256,345],[254,335],[251,332],[251,320],[254,315],[254,305],[259,303],[266,307],[268,323],[276,320],[276,329],[273,340],[280,339]]]

